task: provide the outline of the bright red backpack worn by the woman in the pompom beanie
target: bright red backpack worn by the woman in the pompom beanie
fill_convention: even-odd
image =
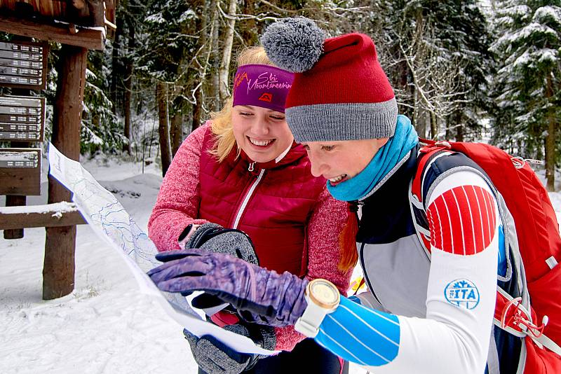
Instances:
[[[525,338],[519,363],[524,373],[561,373],[561,237],[548,193],[522,158],[515,158],[488,144],[431,141],[419,151],[417,172],[410,187],[410,202],[426,214],[422,196],[425,167],[442,152],[459,152],[473,160],[496,190],[506,250],[520,274],[520,297],[513,298],[497,286],[494,324]],[[430,233],[413,220],[426,251]],[[509,249],[510,248],[510,249]],[[522,366],[520,366],[522,365]]]

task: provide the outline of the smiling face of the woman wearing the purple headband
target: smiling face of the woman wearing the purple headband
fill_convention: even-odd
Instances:
[[[285,113],[261,106],[234,106],[232,127],[238,147],[256,162],[274,160],[294,141]]]

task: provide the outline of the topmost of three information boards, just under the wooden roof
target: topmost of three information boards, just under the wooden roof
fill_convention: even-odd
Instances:
[[[0,85],[44,90],[47,52],[46,43],[0,41]]]

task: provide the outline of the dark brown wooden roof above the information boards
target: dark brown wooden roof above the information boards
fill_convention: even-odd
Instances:
[[[0,0],[0,31],[102,50],[116,0]]]

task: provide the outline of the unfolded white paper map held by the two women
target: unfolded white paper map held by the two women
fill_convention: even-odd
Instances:
[[[257,347],[249,338],[208,323],[179,293],[160,291],[146,275],[148,270],[160,265],[154,258],[158,251],[121,203],[97,183],[79,162],[67,158],[53,144],[49,144],[48,160],[49,174],[73,193],[72,200],[76,202],[90,227],[126,259],[137,279],[140,291],[157,298],[170,317],[191,333],[197,336],[213,335],[238,352],[265,355],[275,353]]]

